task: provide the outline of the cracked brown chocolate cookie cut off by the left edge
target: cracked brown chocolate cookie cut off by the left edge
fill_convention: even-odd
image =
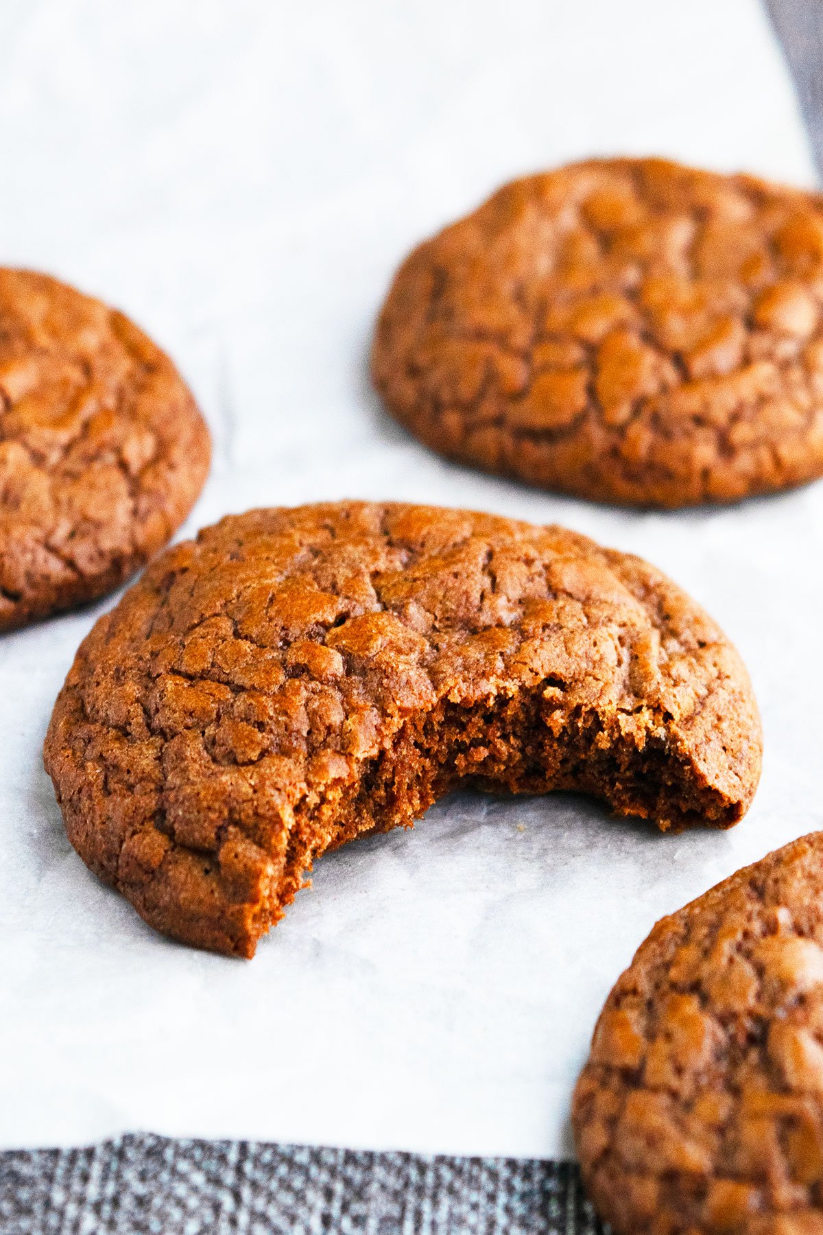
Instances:
[[[127,579],[188,515],[209,456],[191,394],[137,326],[0,269],[0,630]]]

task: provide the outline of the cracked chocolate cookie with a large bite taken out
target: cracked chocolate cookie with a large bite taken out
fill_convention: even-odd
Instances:
[[[72,844],[147,921],[252,956],[318,855],[461,782],[728,827],[760,726],[734,648],[639,558],[339,503],[157,558],[80,646],[46,768]]]

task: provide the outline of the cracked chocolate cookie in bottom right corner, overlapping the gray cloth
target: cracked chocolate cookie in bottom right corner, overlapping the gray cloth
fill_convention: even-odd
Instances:
[[[617,1235],[823,1230],[823,832],[658,923],[600,1016],[574,1129]]]

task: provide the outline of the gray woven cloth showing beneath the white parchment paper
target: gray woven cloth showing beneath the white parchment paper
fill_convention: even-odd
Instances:
[[[767,0],[823,169],[823,5]],[[0,1235],[598,1235],[571,1162],[123,1136],[0,1153]]]

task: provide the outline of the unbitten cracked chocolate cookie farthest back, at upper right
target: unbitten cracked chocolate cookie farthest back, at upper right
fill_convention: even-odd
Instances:
[[[449,458],[598,501],[823,474],[823,199],[660,159],[506,185],[421,245],[373,350]]]

